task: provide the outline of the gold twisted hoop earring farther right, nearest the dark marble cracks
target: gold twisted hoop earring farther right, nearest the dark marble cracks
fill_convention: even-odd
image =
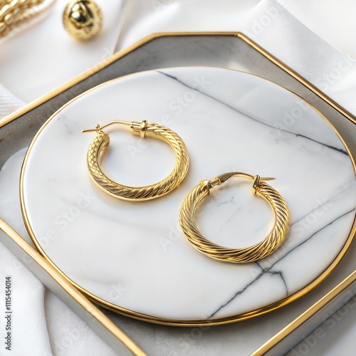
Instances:
[[[223,184],[231,177],[251,179],[253,181],[252,193],[268,201],[275,215],[273,228],[268,236],[258,244],[246,248],[229,248],[214,244],[201,235],[194,217],[197,206],[204,197],[211,194],[215,186]],[[252,262],[270,255],[281,246],[289,229],[289,212],[286,201],[276,189],[264,182],[272,179],[274,178],[261,178],[258,175],[253,177],[250,174],[231,172],[221,174],[211,181],[201,181],[185,197],[180,210],[179,222],[190,244],[206,256],[232,263]]]

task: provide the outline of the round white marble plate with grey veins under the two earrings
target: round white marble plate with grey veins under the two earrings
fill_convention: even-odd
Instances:
[[[187,145],[191,165],[160,199],[120,201],[86,167],[94,132],[111,120],[159,122]],[[157,182],[174,164],[168,145],[110,127],[103,165],[130,185]],[[283,246],[258,263],[215,261],[179,229],[179,207],[201,179],[240,171],[276,177],[290,209]],[[219,68],[169,68],[112,80],[58,110],[33,140],[21,179],[24,215],[38,248],[99,303],[162,323],[222,323],[272,310],[325,278],[350,245],[355,169],[319,112],[280,86]],[[201,231],[248,246],[273,216],[251,182],[231,179],[206,199]]]

